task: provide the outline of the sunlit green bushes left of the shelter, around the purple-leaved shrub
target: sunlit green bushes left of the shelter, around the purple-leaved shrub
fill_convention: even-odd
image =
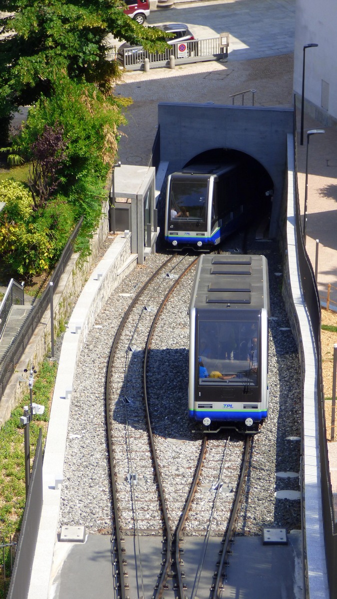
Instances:
[[[39,246],[31,247],[31,238],[22,237],[22,230],[7,229],[1,237],[0,229],[0,248],[7,233],[11,245],[3,248],[7,254],[13,249],[15,261],[14,256],[10,258],[11,253],[7,259],[20,274],[32,276],[34,265],[38,265],[37,273],[52,267],[67,241],[71,223],[81,216],[83,225],[75,249],[82,258],[89,255],[89,242],[100,219],[101,202],[106,198],[106,177],[117,151],[116,133],[122,122],[124,117],[116,99],[105,98],[93,84],[75,84],[67,78],[55,82],[53,98],[42,97],[31,108],[22,131],[13,138],[13,149],[31,160],[35,140],[46,127],[53,128],[58,123],[63,131],[65,158],[58,170],[58,195],[32,219],[34,232],[44,233],[49,244],[43,246],[43,239],[37,237]]]

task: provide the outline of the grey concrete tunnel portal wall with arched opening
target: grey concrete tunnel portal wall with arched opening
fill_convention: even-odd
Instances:
[[[245,152],[269,173],[274,184],[270,235],[276,237],[293,110],[205,104],[158,105],[160,157],[168,173],[179,171],[197,154],[216,148]]]

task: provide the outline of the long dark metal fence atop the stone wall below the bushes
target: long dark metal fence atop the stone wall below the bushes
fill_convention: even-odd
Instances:
[[[73,254],[73,245],[76,240],[77,235],[79,234],[80,227],[83,222],[83,217],[77,223],[73,233],[71,234],[67,245],[65,246],[61,258],[58,261],[58,264],[53,271],[52,277],[50,278],[50,283],[53,283],[54,291],[59,284],[59,280],[61,279],[62,273],[68,261]],[[29,340],[31,340],[32,334],[37,328],[38,323],[40,322],[44,312],[47,310],[50,302],[50,292],[49,286],[43,292],[38,301],[34,302],[32,305],[31,311],[27,315],[25,321],[23,322],[22,327],[17,332],[14,337],[12,343],[8,347],[7,351],[2,356],[0,362],[0,397],[4,394],[5,388],[8,385],[8,382],[14,373],[15,367],[19,359],[21,358],[23,352],[28,346]]]

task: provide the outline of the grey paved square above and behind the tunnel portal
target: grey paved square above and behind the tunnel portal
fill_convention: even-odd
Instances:
[[[161,101],[230,104],[230,94],[255,89],[255,105],[291,106],[294,10],[295,0],[216,0],[153,11],[149,25],[186,23],[200,38],[228,31],[228,62],[125,72],[116,94],[130,96],[133,105],[122,128],[119,160],[148,164]]]

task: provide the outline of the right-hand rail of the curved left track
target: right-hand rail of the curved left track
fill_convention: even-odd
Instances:
[[[144,352],[144,361],[143,361],[143,394],[144,394],[144,401],[145,401],[145,411],[146,411],[146,418],[148,420],[148,432],[149,432],[149,439],[150,439],[150,443],[151,443],[151,451],[152,451],[152,459],[154,461],[154,465],[155,465],[155,473],[156,473],[156,477],[157,477],[157,482],[158,482],[158,491],[160,494],[160,501],[161,501],[161,507],[163,510],[163,515],[164,515],[164,525],[166,528],[166,539],[167,539],[167,546],[166,546],[166,559],[165,559],[165,564],[163,567],[163,570],[161,570],[161,574],[160,574],[160,581],[158,583],[158,589],[156,589],[156,593],[153,595],[154,598],[159,599],[164,591],[164,584],[166,582],[167,576],[168,576],[168,569],[169,569],[169,565],[170,565],[170,556],[171,556],[171,547],[172,547],[172,539],[171,539],[171,531],[170,531],[170,524],[169,524],[169,516],[167,515],[167,509],[166,509],[166,501],[165,501],[165,496],[164,496],[164,490],[163,490],[163,485],[161,484],[161,474],[160,474],[160,467],[158,464],[158,460],[157,460],[157,455],[156,455],[156,451],[155,451],[155,443],[154,443],[154,436],[152,434],[152,428],[151,428],[151,417],[150,417],[150,412],[149,412],[149,405],[148,405],[148,394],[146,391],[146,371],[148,368],[148,358],[149,358],[149,349],[150,349],[150,345],[151,345],[151,340],[152,340],[152,336],[154,334],[154,330],[155,330],[155,326],[157,325],[158,319],[160,317],[161,312],[163,311],[164,305],[166,305],[170,295],[172,294],[172,292],[174,291],[174,289],[176,289],[177,285],[179,284],[180,280],[188,273],[188,271],[192,268],[192,266],[195,264],[195,262],[197,262],[198,258],[195,258],[194,261],[191,262],[191,264],[188,265],[187,268],[185,268],[185,270],[183,271],[183,273],[181,273],[179,275],[179,277],[176,279],[176,281],[173,283],[173,285],[171,286],[171,288],[169,289],[169,291],[167,292],[166,296],[164,297],[163,301],[160,304],[160,307],[157,310],[157,314],[154,317],[154,320],[152,321],[152,325],[149,331],[149,335],[148,335],[148,340],[146,341],[146,346],[145,346],[145,352]],[[179,570],[179,564],[176,563],[176,568],[177,570]],[[180,580],[181,580],[181,576],[180,576]],[[182,585],[182,583],[181,583]],[[180,588],[180,585],[179,585]],[[180,599],[183,599],[183,594],[180,595]]]

